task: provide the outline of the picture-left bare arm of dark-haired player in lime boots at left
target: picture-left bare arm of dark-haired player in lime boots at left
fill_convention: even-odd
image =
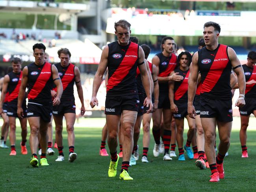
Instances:
[[[22,116],[24,116],[24,111],[21,106],[26,95],[27,86],[28,86],[28,67],[25,66],[22,70],[21,85],[20,85],[20,90],[18,95],[17,114],[19,118],[22,118]]]

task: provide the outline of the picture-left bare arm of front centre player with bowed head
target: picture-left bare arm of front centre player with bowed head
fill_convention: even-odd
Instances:
[[[100,63],[98,65],[98,69],[96,71],[96,74],[93,80],[93,94],[90,102],[91,108],[93,108],[95,105],[98,106],[98,100],[96,96],[97,96],[98,89],[100,88],[103,75],[107,69],[107,66],[108,66],[108,46],[105,46],[102,51]]]

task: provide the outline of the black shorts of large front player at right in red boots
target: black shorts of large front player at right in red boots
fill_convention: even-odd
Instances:
[[[200,96],[200,118],[213,117],[220,122],[233,121],[232,100],[214,100]]]

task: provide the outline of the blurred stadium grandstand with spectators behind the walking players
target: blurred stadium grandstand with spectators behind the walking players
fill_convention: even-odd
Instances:
[[[59,62],[57,50],[67,47],[72,54],[70,62],[83,74],[89,111],[89,87],[102,48],[116,40],[113,23],[120,18],[132,24],[132,35],[138,37],[139,44],[150,46],[149,61],[160,52],[161,39],[166,35],[175,39],[179,51],[196,52],[202,26],[209,20],[221,24],[219,42],[234,48],[241,63],[250,50],[256,50],[256,26],[250,24],[256,13],[254,0],[1,0],[0,7],[0,76],[6,74],[13,57],[20,57],[23,66],[33,62],[32,45],[36,42],[46,45],[51,63]],[[104,99],[93,110],[103,109]]]

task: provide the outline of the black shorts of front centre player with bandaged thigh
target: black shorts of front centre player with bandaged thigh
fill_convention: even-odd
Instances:
[[[139,96],[108,96],[105,102],[105,114],[119,115],[123,110],[137,111],[139,108]]]

